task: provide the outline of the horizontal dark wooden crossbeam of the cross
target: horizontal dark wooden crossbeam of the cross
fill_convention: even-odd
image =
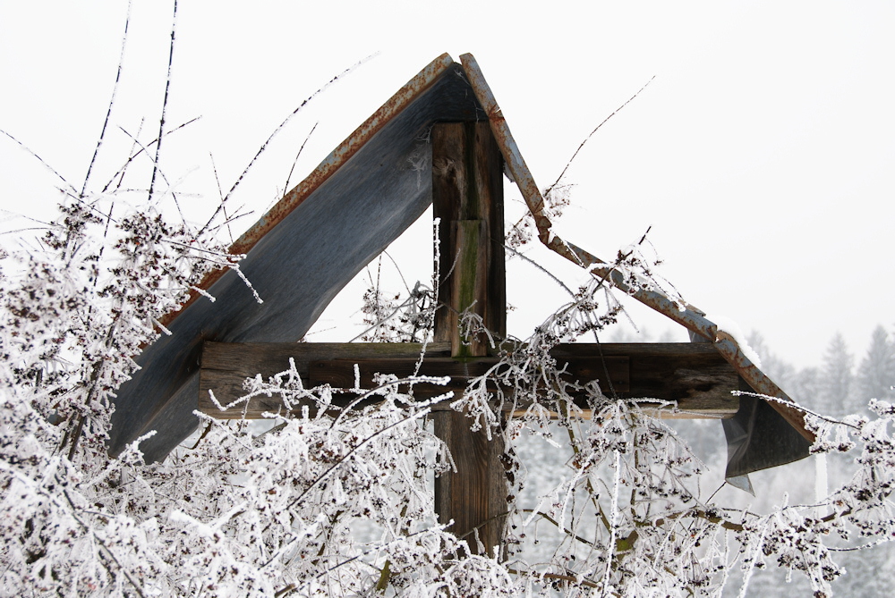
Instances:
[[[260,374],[266,381],[288,370],[290,358],[308,388],[324,383],[333,388],[354,388],[356,364],[361,388],[369,389],[376,374],[399,378],[413,375],[421,351],[419,343],[206,342],[199,409],[225,419],[256,418],[264,412],[281,411],[278,395],[253,397],[248,404],[221,411],[209,391],[222,405],[231,403],[246,394],[246,378]],[[566,367],[568,381],[582,385],[596,381],[607,396],[677,401],[678,411],[666,409],[663,417],[733,417],[739,407],[739,399],[730,394],[739,387],[737,372],[710,344],[571,343],[558,345],[551,355],[559,367]],[[448,390],[462,392],[471,379],[485,374],[498,361],[495,357],[451,358],[449,343],[430,343],[418,373],[450,376],[451,382],[447,386],[414,384],[413,396],[427,399]],[[407,390],[399,388],[400,392]],[[334,404],[347,404],[354,397],[351,393],[337,395]],[[447,409],[447,403],[436,408]]]

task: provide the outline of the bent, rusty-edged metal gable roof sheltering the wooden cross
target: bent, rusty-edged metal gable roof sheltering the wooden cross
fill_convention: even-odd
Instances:
[[[337,292],[430,205],[426,139],[432,124],[469,121],[490,122],[507,170],[534,216],[541,242],[625,290],[623,277],[610,265],[551,231],[541,191],[473,55],[462,55],[461,63],[441,55],[234,243],[231,253],[245,255],[240,270],[263,303],[256,301],[238,273],[224,269],[200,284],[217,299],[214,305],[194,293],[179,311],[162,319],[172,334],[162,336],[136,358],[141,369],[119,389],[109,450],[115,454],[141,434],[157,430],[158,434],[141,442],[141,450],[147,460],[162,459],[192,433],[198,424],[192,411],[204,341],[301,339]],[[770,418],[788,432],[793,445],[788,454],[799,458],[806,454],[813,436],[805,431],[802,413],[786,405],[786,394],[746,358],[735,339],[699,309],[680,309],[661,292],[641,289],[631,294],[684,325],[694,338],[712,342],[756,392],[783,401],[771,401],[771,408],[758,401],[763,408],[757,416],[753,410],[729,424],[734,426],[734,436],[747,438],[755,417]],[[741,450],[746,451],[747,445],[743,443]],[[761,459],[767,463],[763,467],[793,460]],[[772,462],[775,459],[779,462]]]

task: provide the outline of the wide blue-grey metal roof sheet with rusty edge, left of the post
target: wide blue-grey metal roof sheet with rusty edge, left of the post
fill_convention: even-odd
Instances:
[[[224,271],[203,283],[213,305],[194,299],[164,318],[173,334],[136,358],[141,370],[117,393],[109,450],[156,430],[141,450],[147,460],[162,459],[192,432],[203,341],[300,340],[337,292],[430,205],[432,123],[483,114],[447,55],[388,100],[234,244],[263,303]]]

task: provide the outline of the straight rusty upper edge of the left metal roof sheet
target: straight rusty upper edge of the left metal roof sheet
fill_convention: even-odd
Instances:
[[[450,55],[443,54],[433,60],[418,75],[409,80],[407,84],[400,88],[396,94],[379,107],[375,113],[371,115],[361,126],[354,130],[345,141],[339,144],[336,149],[314,169],[314,172],[308,175],[304,181],[300,182],[290,190],[286,195],[277,202],[276,206],[270,208],[267,214],[263,215],[260,220],[255,223],[251,229],[243,233],[243,236],[237,239],[228,249],[229,253],[234,256],[248,253],[255,244],[261,240],[264,235],[270,232],[278,223],[282,222],[287,215],[300,206],[302,202],[311,196],[315,190],[320,188],[333,173],[345,164],[354,154],[363,147],[376,133],[378,133],[388,122],[400,114],[404,108],[410,104],[414,98],[418,97],[426,89],[439,79],[439,76],[447,71],[454,64],[454,60]],[[226,267],[218,268],[209,274],[206,274],[198,287],[204,291],[208,291],[217,280],[220,279],[227,271]],[[162,325],[170,324],[184,309],[192,305],[192,303],[200,297],[198,291],[191,291],[190,298],[179,309],[167,313],[159,318]]]

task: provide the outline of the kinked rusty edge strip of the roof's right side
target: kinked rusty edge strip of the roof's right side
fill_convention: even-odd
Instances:
[[[541,195],[541,190],[538,189],[532,172],[525,164],[519,147],[516,145],[516,140],[513,139],[513,134],[509,131],[497,100],[491,93],[478,63],[476,63],[475,58],[471,54],[461,55],[460,60],[463,63],[466,78],[473,87],[479,103],[484,108],[486,114],[488,114],[491,131],[494,132],[494,137],[498,139],[500,151],[503,153],[507,168],[513,175],[513,180],[516,181],[516,186],[522,193],[525,204],[534,217],[534,223],[538,229],[538,239],[541,240],[541,243],[570,262],[588,269],[597,278],[611,282],[620,291],[625,291],[641,303],[644,303],[644,305],[652,307],[652,309],[664,316],[668,316],[678,324],[683,325],[687,330],[712,341],[719,353],[728,360],[731,366],[734,366],[737,373],[743,376],[743,379],[755,391],[786,402],[792,402],[786,392],[783,392],[771,378],[746,358],[737,341],[733,340],[727,333],[720,332],[718,326],[705,317],[703,310],[689,304],[686,304],[682,310],[677,303],[661,292],[646,291],[643,288],[632,290],[625,283],[624,276],[618,272],[615,266],[607,264],[583,248],[562,240],[551,230],[553,224],[550,222],[550,218],[544,214],[544,198]],[[814,434],[805,429],[805,417],[802,411],[797,408],[790,408],[778,401],[772,400],[769,402],[771,407],[780,413],[780,416],[784,417],[790,425],[796,428],[799,434],[802,434],[808,441],[814,442]]]

